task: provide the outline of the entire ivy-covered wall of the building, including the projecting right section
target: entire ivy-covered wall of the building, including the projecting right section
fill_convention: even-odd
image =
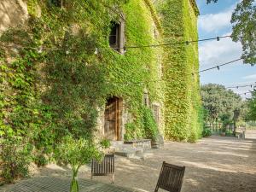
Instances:
[[[125,137],[147,137],[145,90],[150,103],[160,104],[166,139],[200,137],[199,79],[189,74],[198,69],[197,44],[128,48],[125,55],[108,44],[111,21],[120,15],[126,47],[196,39],[192,0],[155,7],[149,0],[70,0],[64,9],[54,2],[27,0],[26,23],[0,37],[1,137],[25,139],[44,152],[68,134],[91,137],[109,96],[125,101]]]

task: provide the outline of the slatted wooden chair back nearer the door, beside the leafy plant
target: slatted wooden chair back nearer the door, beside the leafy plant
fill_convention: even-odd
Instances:
[[[91,162],[91,175],[104,176],[114,172],[114,155],[105,154],[102,162],[92,160]]]

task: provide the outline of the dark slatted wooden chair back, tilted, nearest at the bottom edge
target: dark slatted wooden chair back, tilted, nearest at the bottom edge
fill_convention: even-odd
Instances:
[[[175,166],[164,161],[154,192],[157,192],[159,188],[170,192],[180,192],[184,173],[185,166]]]

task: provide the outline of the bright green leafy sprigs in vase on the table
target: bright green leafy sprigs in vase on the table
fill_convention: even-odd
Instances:
[[[70,192],[78,192],[79,168],[84,164],[90,163],[91,159],[101,160],[102,153],[92,141],[84,138],[73,139],[73,137],[65,137],[63,142],[55,150],[55,158],[60,163],[70,164],[72,167]]]

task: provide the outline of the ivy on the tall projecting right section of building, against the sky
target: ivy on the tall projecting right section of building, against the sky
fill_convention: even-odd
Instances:
[[[158,4],[165,43],[197,39],[197,13],[189,1],[166,0]],[[165,136],[195,142],[201,137],[202,109],[199,94],[198,45],[179,44],[165,48]]]

